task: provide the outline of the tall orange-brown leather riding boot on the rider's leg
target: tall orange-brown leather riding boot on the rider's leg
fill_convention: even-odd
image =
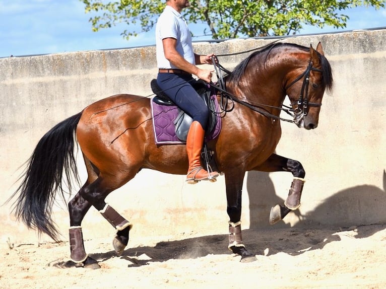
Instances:
[[[204,143],[205,130],[200,122],[194,121],[191,123],[186,139],[187,158],[189,160],[189,168],[187,170],[186,182],[188,184],[196,184],[199,181],[216,179],[218,172],[208,173],[201,165],[201,150]]]

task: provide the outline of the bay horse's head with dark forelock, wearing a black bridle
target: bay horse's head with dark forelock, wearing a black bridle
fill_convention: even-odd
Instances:
[[[303,72],[299,75],[299,69],[289,74],[290,84],[286,87],[286,93],[294,110],[294,122],[298,127],[314,129],[319,121],[321,100],[325,89],[332,89],[333,77],[331,66],[324,56],[321,43],[316,50],[309,49],[309,58],[303,60]]]

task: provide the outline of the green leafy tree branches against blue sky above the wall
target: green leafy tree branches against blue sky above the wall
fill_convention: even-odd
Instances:
[[[126,23],[121,33],[126,39],[138,34],[133,24],[139,23],[141,32],[150,31],[165,7],[160,0],[80,1],[85,13],[93,15],[89,20],[93,31]],[[205,35],[226,39],[295,34],[304,25],[344,28],[349,18],[341,13],[359,6],[384,9],[386,0],[191,0],[182,14],[189,26],[204,23]]]

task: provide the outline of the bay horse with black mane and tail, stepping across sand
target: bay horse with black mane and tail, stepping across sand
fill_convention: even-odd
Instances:
[[[211,140],[215,161],[224,174],[229,246],[240,261],[252,261],[241,237],[241,189],[246,171],[291,172],[294,179],[285,204],[271,211],[275,223],[300,205],[305,171],[299,161],[274,153],[281,137],[280,112],[288,96],[288,107],[298,127],[318,125],[321,101],[332,90],[331,66],[320,42],[316,49],[289,43],[274,43],[256,49],[223,79],[218,90],[233,102],[222,116],[222,130]],[[116,229],[113,247],[118,255],[128,243],[132,224],[105,202],[106,196],[123,186],[143,168],[169,174],[187,172],[184,144],[157,145],[152,129],[151,99],[118,94],[99,100],[78,114],[56,124],[38,142],[22,182],[14,211],[29,228],[58,240],[51,219],[55,195],[63,194],[62,182],[71,189],[78,176],[74,147],[83,153],[87,180],[69,201],[71,259],[80,266],[99,267],[85,252],[82,220],[95,207]],[[289,112],[289,113],[290,113]],[[74,135],[75,133],[75,135]],[[64,179],[64,180],[63,180]],[[11,197],[11,198],[12,198]]]

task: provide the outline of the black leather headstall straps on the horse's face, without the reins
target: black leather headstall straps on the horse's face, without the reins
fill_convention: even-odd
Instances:
[[[323,73],[323,70],[312,67],[312,61],[309,60],[307,68],[304,70],[304,72],[299,75],[293,82],[290,83],[289,86],[286,87],[289,89],[292,85],[294,85],[296,82],[298,82],[302,77],[303,79],[303,84],[301,86],[300,90],[300,95],[299,99],[297,101],[291,102],[291,106],[297,105],[297,107],[294,109],[294,123],[297,125],[300,123],[300,121],[303,119],[304,116],[307,115],[308,112],[308,107],[313,106],[313,107],[320,107],[321,103],[315,103],[315,102],[309,102],[308,101],[308,85],[309,85],[309,74],[312,71],[317,71],[319,73]]]

